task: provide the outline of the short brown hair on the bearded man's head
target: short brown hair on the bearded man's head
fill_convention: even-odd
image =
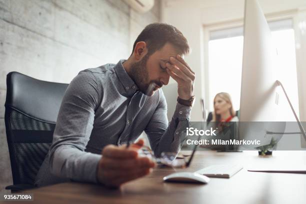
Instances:
[[[162,48],[166,42],[177,48],[179,54],[189,52],[189,45],[184,35],[176,27],[167,23],[155,22],[146,25],[135,40],[132,53],[136,43],[140,41],[146,43],[149,55]]]

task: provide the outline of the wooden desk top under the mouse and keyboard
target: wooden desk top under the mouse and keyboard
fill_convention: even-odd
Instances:
[[[210,164],[243,164],[231,178],[211,178],[208,184],[165,183],[174,172],[157,168],[120,189],[90,183],[60,183],[31,190],[34,203],[306,203],[306,174],[250,172],[251,165],[306,164],[306,151],[277,151],[259,157],[256,151],[197,151],[191,166],[176,171],[195,171]],[[10,202],[11,203],[11,202]]]

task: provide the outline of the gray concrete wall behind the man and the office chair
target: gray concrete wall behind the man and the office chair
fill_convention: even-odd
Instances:
[[[139,14],[121,0],[0,0],[0,191],[12,184],[4,127],[10,71],[69,83],[78,71],[127,58],[159,0]]]

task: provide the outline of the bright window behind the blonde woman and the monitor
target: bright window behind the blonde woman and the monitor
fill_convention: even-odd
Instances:
[[[280,60],[279,71],[295,109],[298,109],[295,42],[292,19],[268,23]],[[213,98],[218,92],[231,95],[233,108],[239,109],[243,52],[243,27],[210,32],[208,41],[208,109],[213,111]],[[289,71],[288,71],[289,70]]]

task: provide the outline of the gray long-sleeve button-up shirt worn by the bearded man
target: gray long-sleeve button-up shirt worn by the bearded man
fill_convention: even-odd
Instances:
[[[191,108],[176,103],[168,123],[162,90],[152,96],[140,92],[123,62],[80,71],[68,85],[37,186],[70,179],[97,182],[101,149],[126,143],[129,135],[134,141],[143,130],[155,155],[179,151]]]

